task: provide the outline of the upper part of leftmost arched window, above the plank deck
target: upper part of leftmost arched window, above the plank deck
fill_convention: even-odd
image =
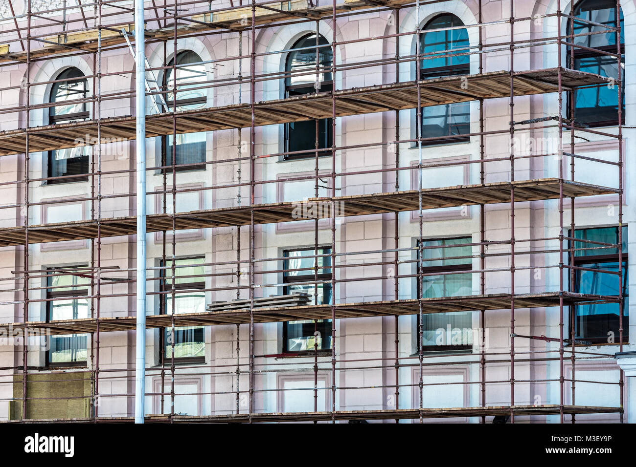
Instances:
[[[73,102],[64,105],[64,102],[85,99],[88,96],[88,81],[84,74],[75,67],[67,68],[60,72],[53,83],[49,102],[55,103],[49,108],[50,123],[67,120],[81,120],[88,118],[88,104],[86,102]]]

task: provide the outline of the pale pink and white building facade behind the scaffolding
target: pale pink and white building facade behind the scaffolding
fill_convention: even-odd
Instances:
[[[636,4],[322,3],[146,3],[146,414],[632,421]],[[13,4],[0,419],[131,417],[132,3]]]

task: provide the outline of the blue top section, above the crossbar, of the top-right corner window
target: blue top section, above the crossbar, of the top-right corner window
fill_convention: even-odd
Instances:
[[[606,27],[616,27],[616,1],[614,0],[582,0],[574,7],[574,15],[582,20],[603,24]],[[574,30],[572,30],[574,22]],[[620,11],[621,44],[625,43],[625,27],[623,26],[623,10]],[[571,20],[567,32],[584,34],[575,36],[574,44],[590,48],[616,48],[616,31],[601,32],[605,28],[589,23]],[[596,34],[595,34],[596,33]],[[575,50],[575,53],[577,51]],[[581,50],[581,53],[584,53]]]

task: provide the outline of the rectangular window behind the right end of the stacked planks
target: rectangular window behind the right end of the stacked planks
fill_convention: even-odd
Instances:
[[[315,255],[314,248],[284,252],[283,281],[289,284],[284,293],[304,292],[309,295],[311,304],[331,304],[331,248],[318,248],[318,255],[327,256],[305,257],[312,255]],[[331,349],[331,330],[331,320],[287,321],[283,323],[283,352],[312,352],[316,343],[318,350]]]

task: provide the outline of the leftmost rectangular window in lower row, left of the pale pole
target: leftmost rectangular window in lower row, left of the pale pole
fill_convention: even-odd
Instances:
[[[87,298],[90,279],[78,267],[50,267],[46,278],[46,321],[78,320],[90,317]],[[46,362],[53,367],[86,365],[88,334],[64,334],[50,337]]]

